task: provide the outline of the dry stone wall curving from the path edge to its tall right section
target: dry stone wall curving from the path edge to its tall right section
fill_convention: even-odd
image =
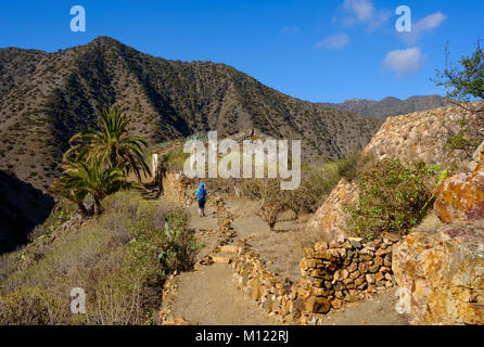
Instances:
[[[269,271],[260,256],[244,244],[232,264],[234,277],[247,298],[283,323],[318,324],[322,314],[345,303],[372,297],[395,285],[392,272],[393,234],[364,244],[344,239],[306,248],[301,279],[292,283]]]

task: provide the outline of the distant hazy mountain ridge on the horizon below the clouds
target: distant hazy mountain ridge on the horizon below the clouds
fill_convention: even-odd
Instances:
[[[351,111],[368,117],[385,120],[389,116],[405,115],[418,111],[438,108],[447,105],[440,95],[411,97],[407,100],[389,97],[381,101],[348,99],[343,103],[321,103],[335,110]]]

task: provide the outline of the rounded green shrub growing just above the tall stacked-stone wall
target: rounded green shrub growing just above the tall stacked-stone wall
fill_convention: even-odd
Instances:
[[[373,163],[358,175],[359,200],[346,206],[346,231],[372,240],[382,232],[405,234],[426,215],[435,174],[423,164]]]

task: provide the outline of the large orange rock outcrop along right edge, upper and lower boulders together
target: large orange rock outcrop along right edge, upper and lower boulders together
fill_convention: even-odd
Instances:
[[[436,188],[434,210],[449,226],[413,231],[394,247],[398,308],[415,324],[484,324],[483,149],[473,172]]]

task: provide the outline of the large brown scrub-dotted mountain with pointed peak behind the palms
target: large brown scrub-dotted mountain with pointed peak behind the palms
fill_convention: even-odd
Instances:
[[[131,113],[135,132],[152,145],[257,128],[303,140],[308,160],[362,147],[381,125],[284,95],[224,64],[168,61],[100,37],[55,53],[0,50],[0,168],[47,190],[68,139],[112,105]]]

